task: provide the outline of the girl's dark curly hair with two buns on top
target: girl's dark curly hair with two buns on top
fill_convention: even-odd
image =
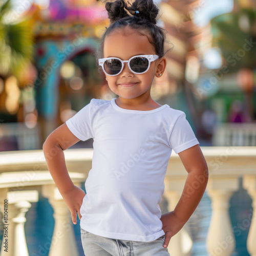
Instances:
[[[106,36],[116,29],[130,27],[137,33],[145,35],[154,46],[159,57],[163,57],[167,51],[164,49],[165,30],[157,26],[159,8],[153,0],[135,0],[129,5],[125,0],[117,0],[105,4],[108,11],[110,26],[101,37],[100,48],[97,58],[103,57],[104,40]]]

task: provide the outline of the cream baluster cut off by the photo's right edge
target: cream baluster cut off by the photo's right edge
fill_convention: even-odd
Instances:
[[[248,216],[251,225],[247,238],[247,250],[251,256],[256,256],[256,176],[246,175],[243,179],[243,186],[252,199],[253,209],[253,213]]]

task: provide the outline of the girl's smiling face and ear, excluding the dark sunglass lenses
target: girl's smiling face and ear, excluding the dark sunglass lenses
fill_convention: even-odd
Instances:
[[[153,45],[148,41],[147,36],[140,35],[129,27],[115,30],[105,38],[104,58],[118,57],[121,60],[129,60],[133,56],[147,54],[156,54]],[[163,65],[160,64],[163,62],[161,59],[151,62],[150,69],[144,74],[134,74],[127,63],[124,63],[124,68],[119,75],[106,75],[110,89],[124,99],[134,99],[141,95],[150,97],[149,89],[152,86],[154,76],[159,77],[159,74],[164,71]]]

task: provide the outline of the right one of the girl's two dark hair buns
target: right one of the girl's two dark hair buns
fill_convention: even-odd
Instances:
[[[126,7],[133,16],[147,19],[153,24],[157,24],[158,7],[153,0],[136,0],[131,6]],[[138,11],[138,13],[136,13]]]

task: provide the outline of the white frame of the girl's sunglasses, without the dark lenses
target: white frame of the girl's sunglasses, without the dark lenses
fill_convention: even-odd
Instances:
[[[148,60],[148,67],[147,67],[147,69],[146,69],[144,72],[137,73],[137,72],[134,72],[134,71],[131,69],[131,67],[130,67],[130,61],[131,61],[133,58],[136,58],[136,57],[143,57],[143,58],[146,58],[146,59]],[[119,75],[119,74],[123,71],[124,63],[127,63],[128,67],[129,67],[129,69],[131,70],[132,73],[140,75],[140,74],[146,73],[146,72],[148,71],[148,69],[150,68],[151,62],[157,60],[158,58],[159,58],[158,55],[136,55],[136,56],[131,57],[129,60],[121,60],[121,59],[119,59],[119,58],[117,58],[117,57],[109,57],[109,58],[102,58],[102,59],[99,59],[99,66],[101,66],[103,72],[104,72],[106,75],[108,75],[108,76],[117,76],[117,75]],[[108,74],[108,73],[105,71],[105,69],[104,69],[104,62],[105,62],[106,60],[108,60],[108,59],[118,59],[118,60],[120,60],[120,62],[122,63],[122,67],[121,67],[121,70],[120,70],[119,73],[117,73],[117,74],[115,74],[115,75],[110,75],[110,74]]]

